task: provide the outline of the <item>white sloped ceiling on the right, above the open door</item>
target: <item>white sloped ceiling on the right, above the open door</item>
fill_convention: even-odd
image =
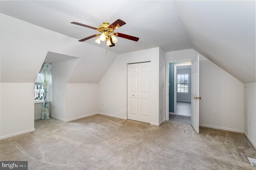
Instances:
[[[255,1],[174,4],[194,50],[241,82],[255,82]]]

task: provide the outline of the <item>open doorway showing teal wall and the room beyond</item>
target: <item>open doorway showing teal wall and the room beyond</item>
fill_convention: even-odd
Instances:
[[[169,120],[191,124],[191,62],[170,63]]]

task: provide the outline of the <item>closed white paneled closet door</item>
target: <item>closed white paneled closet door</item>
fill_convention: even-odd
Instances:
[[[150,123],[150,62],[128,64],[128,119]]]

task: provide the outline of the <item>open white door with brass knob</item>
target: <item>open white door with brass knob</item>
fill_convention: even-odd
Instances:
[[[199,55],[191,63],[191,125],[199,133]]]

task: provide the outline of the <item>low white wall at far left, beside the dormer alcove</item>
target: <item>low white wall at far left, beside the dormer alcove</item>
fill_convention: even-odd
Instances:
[[[0,139],[34,131],[34,83],[1,83],[0,86]]]

